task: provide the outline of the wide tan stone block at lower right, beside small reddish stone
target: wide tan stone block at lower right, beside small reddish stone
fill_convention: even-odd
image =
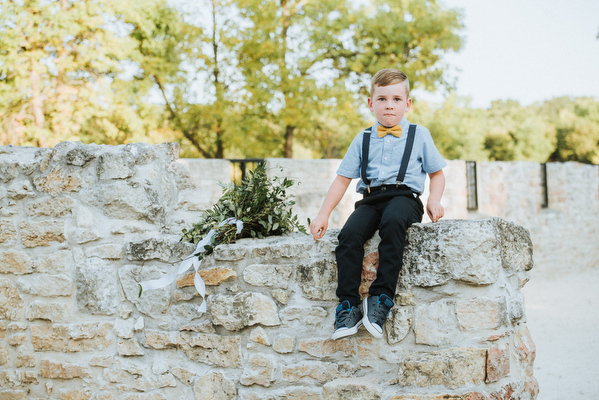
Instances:
[[[443,385],[458,389],[484,382],[487,352],[478,348],[453,348],[408,354],[399,364],[403,386]]]

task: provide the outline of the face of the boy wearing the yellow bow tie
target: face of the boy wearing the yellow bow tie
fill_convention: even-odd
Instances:
[[[379,124],[387,127],[399,124],[411,105],[412,99],[408,98],[403,82],[377,86],[372,98],[368,98],[368,108],[374,113]]]

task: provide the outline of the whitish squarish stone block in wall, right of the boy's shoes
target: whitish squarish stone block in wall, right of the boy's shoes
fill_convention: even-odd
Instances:
[[[416,308],[416,343],[441,346],[452,343],[458,334],[454,300],[437,300]]]

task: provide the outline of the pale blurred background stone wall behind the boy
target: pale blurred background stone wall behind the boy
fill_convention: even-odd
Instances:
[[[210,161],[194,160],[190,170],[204,171],[196,175],[204,179],[221,173],[204,168]],[[301,221],[314,218],[335,177],[341,160],[268,159],[273,174],[299,179],[294,211]],[[281,173],[276,168],[283,167]],[[541,165],[534,162],[478,163],[478,204],[476,211],[468,210],[466,163],[448,161],[444,169],[447,186],[443,195],[446,219],[481,219],[500,217],[531,232],[534,242],[535,275],[558,275],[599,267],[599,166],[574,162],[548,163],[547,181],[549,206],[542,208]],[[197,172],[196,172],[197,174]],[[228,177],[223,177],[226,181]],[[334,210],[330,227],[341,228],[353,211],[359,196],[355,180],[345,197]],[[427,180],[428,184],[428,180]],[[220,190],[214,186],[214,190]],[[220,193],[220,191],[218,192]],[[428,194],[425,189],[423,200]],[[424,222],[428,222],[424,216]]]

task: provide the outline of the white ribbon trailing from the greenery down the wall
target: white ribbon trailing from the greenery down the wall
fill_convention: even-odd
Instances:
[[[236,232],[237,234],[241,233],[241,230],[243,229],[243,221],[235,219],[235,218],[228,218],[228,219],[224,220],[223,222],[218,224],[218,227],[220,228],[221,226],[223,226],[225,224],[236,225],[237,226],[237,232]],[[216,233],[216,230],[214,230],[214,229],[211,229],[210,232],[208,232],[208,234],[198,243],[194,252],[192,254],[190,254],[188,257],[186,257],[185,259],[183,259],[183,261],[181,261],[181,264],[179,264],[179,268],[177,269],[176,273],[170,274],[170,275],[164,275],[163,277],[161,277],[159,279],[153,279],[151,281],[141,282],[139,284],[139,296],[141,297],[141,294],[146,290],[160,289],[160,288],[170,285],[171,283],[173,283],[175,281],[175,279],[177,279],[177,277],[179,275],[181,275],[184,272],[187,272],[187,270],[193,266],[193,268],[195,269],[195,272],[196,272],[195,276],[193,277],[193,285],[195,286],[199,295],[202,297],[202,304],[200,305],[200,312],[205,313],[206,312],[206,299],[205,299],[206,284],[204,283],[204,280],[202,279],[202,277],[200,276],[200,273],[198,272],[198,269],[200,268],[200,265],[202,264],[202,260],[200,260],[200,257],[198,257],[198,254],[204,253],[206,251],[206,246],[212,244],[212,238],[214,237],[215,233]]]

